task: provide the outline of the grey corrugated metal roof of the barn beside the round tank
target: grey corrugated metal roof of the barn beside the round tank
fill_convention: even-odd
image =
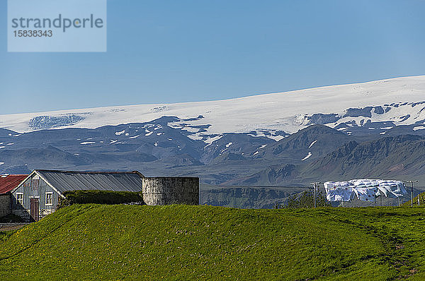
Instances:
[[[74,190],[142,191],[143,176],[139,172],[35,171],[61,193]]]

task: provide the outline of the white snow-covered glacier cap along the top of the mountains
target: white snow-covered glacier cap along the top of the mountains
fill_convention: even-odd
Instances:
[[[409,125],[425,129],[425,76],[333,85],[231,100],[71,109],[0,115],[0,127],[20,133],[45,128],[97,128],[176,116],[169,126],[208,140],[250,133],[278,140],[311,124],[352,131]],[[43,123],[44,122],[44,123]],[[210,136],[210,137],[208,137]]]

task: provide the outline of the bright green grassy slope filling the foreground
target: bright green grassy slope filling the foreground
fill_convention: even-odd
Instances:
[[[424,214],[72,205],[1,242],[0,280],[421,280]]]

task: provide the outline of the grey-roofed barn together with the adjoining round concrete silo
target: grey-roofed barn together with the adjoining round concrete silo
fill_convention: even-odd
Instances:
[[[11,189],[11,213],[38,221],[55,212],[64,192],[77,190],[132,191],[147,205],[186,203],[197,205],[196,177],[145,178],[140,172],[69,172],[36,169]]]

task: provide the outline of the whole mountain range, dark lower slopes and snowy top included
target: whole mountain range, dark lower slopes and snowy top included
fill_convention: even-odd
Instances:
[[[8,114],[0,126],[0,174],[137,169],[200,177],[209,186],[274,186],[273,194],[311,181],[425,179],[425,76],[234,100]]]

